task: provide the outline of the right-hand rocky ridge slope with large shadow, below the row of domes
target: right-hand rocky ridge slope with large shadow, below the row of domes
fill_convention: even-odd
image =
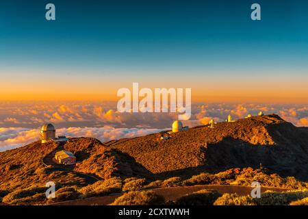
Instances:
[[[194,127],[168,140],[152,134],[112,142],[154,174],[179,175],[234,167],[259,168],[282,175],[308,177],[308,133],[277,115],[253,116],[211,129]],[[183,170],[183,171],[182,171]],[[163,174],[164,175],[164,174]]]

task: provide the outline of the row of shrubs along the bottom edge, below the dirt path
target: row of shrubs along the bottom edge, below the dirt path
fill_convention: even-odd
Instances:
[[[267,191],[261,198],[236,193],[222,195],[215,190],[199,190],[166,203],[155,191],[148,190],[127,192],[116,198],[112,205],[308,205],[307,198],[307,190]]]

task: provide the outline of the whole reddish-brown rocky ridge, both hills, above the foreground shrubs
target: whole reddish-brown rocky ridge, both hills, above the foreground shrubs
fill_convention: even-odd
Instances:
[[[0,192],[44,186],[47,181],[84,186],[110,177],[190,177],[198,172],[262,166],[281,175],[308,178],[308,132],[277,115],[254,116],[194,127],[159,140],[160,133],[104,144],[71,138],[0,153]],[[53,164],[56,151],[75,153],[76,166]]]

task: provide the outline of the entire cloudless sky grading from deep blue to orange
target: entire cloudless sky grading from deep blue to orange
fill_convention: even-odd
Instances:
[[[46,21],[54,3],[56,21]],[[261,21],[251,20],[251,4]],[[307,103],[307,1],[1,1],[0,99],[117,99],[132,82],[192,99]]]

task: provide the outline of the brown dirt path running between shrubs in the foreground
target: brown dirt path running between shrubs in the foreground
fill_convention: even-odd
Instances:
[[[240,195],[248,195],[251,194],[252,188],[249,186],[240,186],[240,185],[193,185],[193,186],[182,186],[182,187],[171,187],[171,188],[157,188],[153,189],[156,194],[164,196],[166,201],[172,200],[175,201],[177,198],[190,194],[192,192],[196,192],[198,190],[209,189],[209,190],[217,190],[221,194],[224,193],[238,193]],[[277,192],[287,191],[287,189],[281,188],[261,188],[261,193],[266,190],[273,190]],[[101,196],[101,197],[92,197],[85,199],[77,199],[73,201],[64,201],[61,203],[54,203],[52,205],[109,205],[116,198],[121,196],[123,193],[111,194],[109,196]]]

